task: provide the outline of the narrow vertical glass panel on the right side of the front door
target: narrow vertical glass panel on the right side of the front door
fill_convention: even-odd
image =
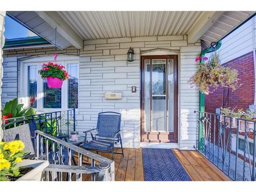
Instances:
[[[168,59],[168,131],[174,132],[174,60]]]

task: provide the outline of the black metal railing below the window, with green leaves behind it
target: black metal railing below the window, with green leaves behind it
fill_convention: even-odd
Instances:
[[[32,120],[39,131],[55,137],[68,136],[71,131],[76,130],[75,109],[2,119],[2,128],[10,129]]]

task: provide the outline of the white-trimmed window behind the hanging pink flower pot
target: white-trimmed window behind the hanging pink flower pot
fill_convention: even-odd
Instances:
[[[79,62],[67,58],[57,59],[58,65],[64,66],[69,74],[69,79],[63,81],[61,89],[50,89],[47,80],[41,79],[38,74],[43,63],[52,61],[52,57],[51,60],[50,57],[45,60],[42,57],[38,61],[24,61],[20,70],[20,102],[26,107],[32,106],[37,111],[77,109]]]

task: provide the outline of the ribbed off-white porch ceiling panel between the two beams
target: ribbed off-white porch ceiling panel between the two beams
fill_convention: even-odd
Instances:
[[[203,11],[60,11],[83,39],[187,34]]]

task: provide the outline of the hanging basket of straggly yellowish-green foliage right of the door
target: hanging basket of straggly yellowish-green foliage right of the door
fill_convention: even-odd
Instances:
[[[219,86],[234,91],[241,86],[238,83],[237,70],[222,66],[217,54],[214,54],[210,60],[207,57],[197,57],[196,61],[199,61],[198,71],[190,77],[188,82],[202,93],[209,94],[210,87],[214,88],[213,91]]]

